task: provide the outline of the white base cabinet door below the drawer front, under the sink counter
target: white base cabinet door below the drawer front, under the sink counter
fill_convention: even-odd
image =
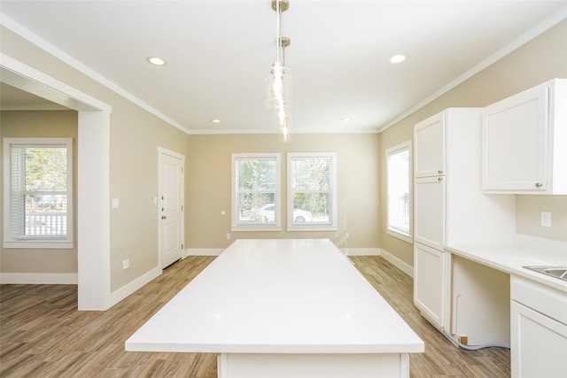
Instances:
[[[565,376],[567,326],[516,301],[510,312],[512,377]]]

